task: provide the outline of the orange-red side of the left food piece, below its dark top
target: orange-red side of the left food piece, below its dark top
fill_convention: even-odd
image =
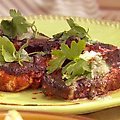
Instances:
[[[17,92],[28,88],[33,80],[28,74],[20,76],[9,75],[0,71],[0,91]]]

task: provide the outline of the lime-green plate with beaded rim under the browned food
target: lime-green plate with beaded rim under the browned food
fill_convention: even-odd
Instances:
[[[38,30],[49,36],[69,29],[67,17],[34,16]],[[120,46],[120,24],[93,19],[73,18],[79,25],[89,29],[93,40]],[[47,111],[57,113],[83,114],[106,108],[120,106],[120,90],[110,92],[95,100],[79,99],[73,101],[56,100],[45,97],[40,90],[25,90],[18,93],[0,92],[0,109],[17,109],[28,111]]]

